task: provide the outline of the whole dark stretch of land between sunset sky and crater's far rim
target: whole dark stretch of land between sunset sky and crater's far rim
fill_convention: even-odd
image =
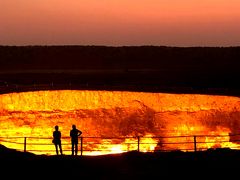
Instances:
[[[0,81],[240,91],[240,47],[0,46]]]

